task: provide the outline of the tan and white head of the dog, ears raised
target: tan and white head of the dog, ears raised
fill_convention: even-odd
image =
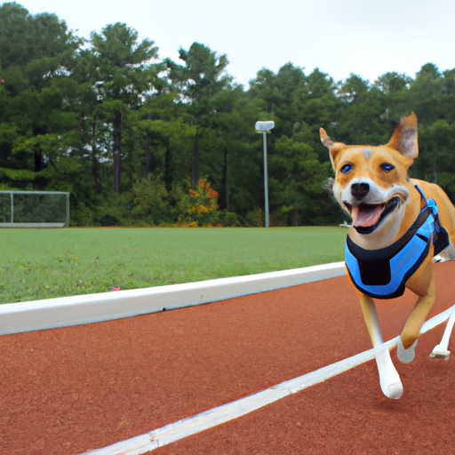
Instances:
[[[355,230],[368,235],[403,217],[411,193],[408,169],[419,155],[417,116],[404,116],[384,146],[347,146],[333,142],[323,128],[335,171],[333,195],[353,220]]]

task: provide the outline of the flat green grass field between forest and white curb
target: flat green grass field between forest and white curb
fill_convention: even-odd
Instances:
[[[0,303],[343,260],[344,228],[2,229]]]

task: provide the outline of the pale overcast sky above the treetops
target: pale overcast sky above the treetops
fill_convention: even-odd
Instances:
[[[0,4],[4,4],[0,0]],[[18,0],[52,12],[77,36],[124,22],[179,60],[194,42],[226,54],[227,72],[248,88],[259,69],[288,62],[335,81],[374,82],[395,71],[415,77],[426,63],[455,68],[453,0]]]

